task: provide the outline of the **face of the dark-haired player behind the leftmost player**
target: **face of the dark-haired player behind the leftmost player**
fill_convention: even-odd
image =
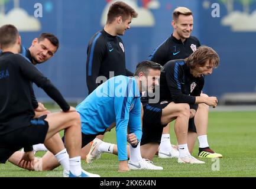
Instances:
[[[54,53],[57,51],[57,47],[51,44],[47,38],[44,38],[41,41],[38,41],[38,38],[35,38],[29,50],[31,57],[36,61],[34,64],[40,64],[53,57]]]

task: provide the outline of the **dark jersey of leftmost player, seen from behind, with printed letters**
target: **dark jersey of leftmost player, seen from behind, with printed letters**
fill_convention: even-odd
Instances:
[[[20,54],[10,52],[0,56],[0,135],[31,125],[34,107],[31,82],[37,84],[62,110],[70,106],[63,96],[35,66]]]

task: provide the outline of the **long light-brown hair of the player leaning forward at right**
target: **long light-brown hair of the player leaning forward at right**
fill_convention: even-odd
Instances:
[[[185,59],[187,66],[190,69],[195,69],[195,67],[205,66],[206,61],[210,60],[213,67],[219,66],[219,56],[215,50],[205,45],[200,46],[197,50],[190,54],[188,58]]]

